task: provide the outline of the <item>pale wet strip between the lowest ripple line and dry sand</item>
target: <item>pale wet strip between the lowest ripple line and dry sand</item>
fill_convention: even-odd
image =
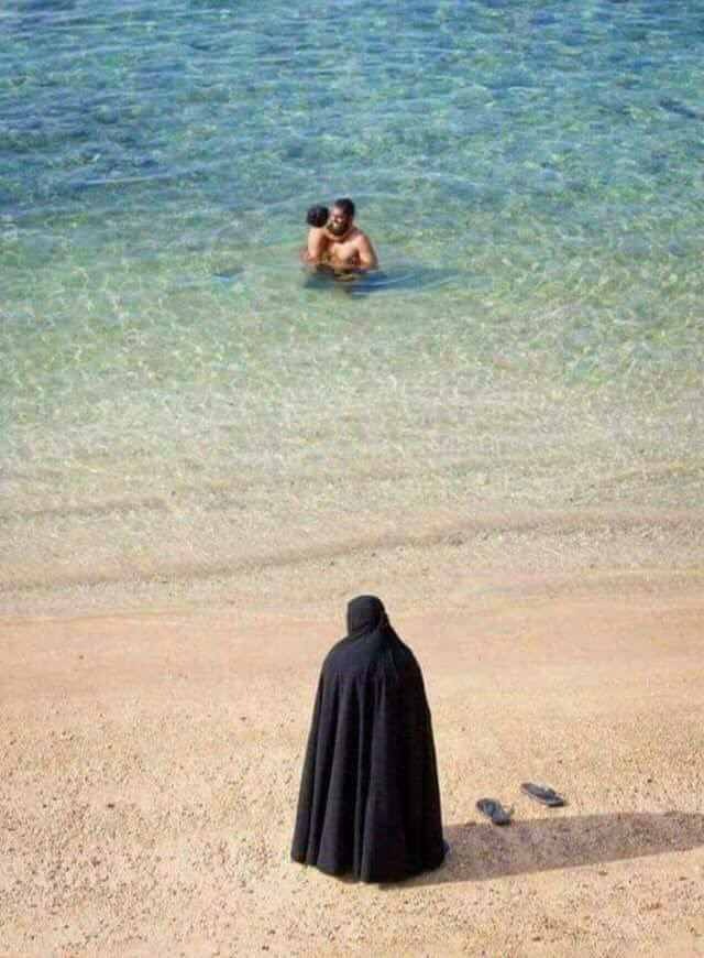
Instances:
[[[295,541],[295,540],[294,540]],[[114,556],[108,564],[36,560],[0,564],[0,617],[243,603],[334,614],[340,597],[384,592],[402,601],[417,583],[424,602],[460,600],[469,590],[503,591],[505,580],[596,581],[638,576],[704,576],[704,518],[698,510],[582,509],[484,512],[451,510],[400,527],[394,519],[365,532],[342,526],[334,538],[305,544],[239,543],[229,556]],[[268,546],[268,549],[266,548]],[[278,546],[278,548],[276,547]],[[16,548],[16,546],[15,546]],[[273,549],[273,551],[272,551]]]

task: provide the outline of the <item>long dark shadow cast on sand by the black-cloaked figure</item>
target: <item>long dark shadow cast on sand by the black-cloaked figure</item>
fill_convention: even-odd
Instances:
[[[513,821],[508,826],[450,825],[446,863],[406,884],[487,881],[552,869],[605,864],[704,845],[704,815],[625,812]],[[392,885],[388,885],[392,888]]]

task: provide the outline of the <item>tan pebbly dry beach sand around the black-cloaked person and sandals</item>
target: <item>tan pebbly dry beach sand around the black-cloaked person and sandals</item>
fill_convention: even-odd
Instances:
[[[389,886],[288,858],[319,664],[374,583],[348,566],[317,605],[322,567],[277,592],[252,573],[230,603],[18,602],[0,622],[0,954],[704,954],[701,569],[513,562],[443,598],[441,546],[415,575],[380,565],[424,667],[452,846]],[[531,803],[525,780],[569,806]],[[515,823],[487,824],[482,796]]]

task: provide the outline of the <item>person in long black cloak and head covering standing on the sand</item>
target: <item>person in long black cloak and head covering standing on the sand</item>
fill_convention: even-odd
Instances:
[[[420,666],[382,601],[359,596],[346,638],[322,664],[292,857],[387,882],[438,868],[444,854]]]

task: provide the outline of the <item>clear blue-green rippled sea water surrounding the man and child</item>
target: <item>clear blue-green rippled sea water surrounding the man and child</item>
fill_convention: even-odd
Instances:
[[[701,0],[4,4],[6,587],[701,505],[703,64]],[[311,283],[343,195],[383,273]]]

